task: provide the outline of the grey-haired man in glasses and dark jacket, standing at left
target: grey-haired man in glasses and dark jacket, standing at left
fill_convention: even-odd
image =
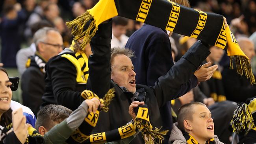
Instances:
[[[28,59],[28,68],[22,74],[21,88],[23,104],[36,114],[45,92],[45,64],[63,50],[63,40],[57,30],[49,27],[37,30],[33,39],[37,51]]]

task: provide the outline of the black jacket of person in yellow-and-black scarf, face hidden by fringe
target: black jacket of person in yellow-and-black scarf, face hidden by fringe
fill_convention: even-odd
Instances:
[[[68,53],[73,55],[73,53]],[[42,106],[48,104],[63,105],[72,111],[83,102],[81,92],[86,84],[76,82],[76,67],[65,57],[52,57],[45,66],[45,93]]]

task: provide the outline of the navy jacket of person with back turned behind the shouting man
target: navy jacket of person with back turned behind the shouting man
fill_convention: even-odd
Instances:
[[[132,59],[132,63],[135,67],[135,78],[138,84],[154,86],[158,78],[165,75],[174,65],[169,36],[161,28],[144,24],[130,36],[125,47],[135,52],[136,58]],[[175,97],[185,94],[188,87],[191,87],[191,82],[196,85],[197,78],[194,75],[191,80],[188,85],[180,87],[180,93],[177,93]],[[170,101],[160,107],[160,113],[163,129],[169,129],[164,141],[164,143],[168,143],[173,126]]]

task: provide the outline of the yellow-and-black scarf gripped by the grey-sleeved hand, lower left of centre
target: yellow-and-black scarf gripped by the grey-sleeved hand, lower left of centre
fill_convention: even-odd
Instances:
[[[91,131],[93,128],[96,126],[98,122],[98,116],[100,114],[100,111],[108,112],[108,105],[110,104],[111,100],[114,98],[115,94],[115,89],[109,89],[107,94],[103,97],[103,99],[100,99],[96,94],[91,92],[90,90],[84,90],[81,94],[81,96],[85,100],[89,100],[92,98],[98,98],[100,100],[100,103],[104,104],[102,109],[99,109],[96,111],[96,113],[88,113],[87,116],[85,117],[85,120],[82,122],[82,124],[74,131],[69,139],[67,139],[68,144],[77,144],[77,143],[82,143],[84,142],[87,138],[90,137]]]

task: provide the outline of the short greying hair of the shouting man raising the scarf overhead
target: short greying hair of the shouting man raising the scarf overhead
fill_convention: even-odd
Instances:
[[[128,48],[119,48],[119,47],[115,47],[115,48],[111,48],[111,57],[110,57],[110,63],[111,63],[111,67],[114,61],[115,56],[117,55],[126,55],[129,58],[135,57],[134,56],[134,51],[128,49]]]

